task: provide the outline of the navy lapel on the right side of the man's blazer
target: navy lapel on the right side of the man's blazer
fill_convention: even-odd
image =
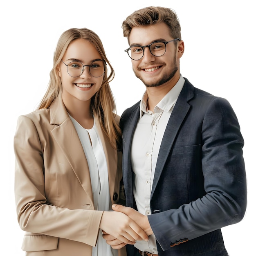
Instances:
[[[164,132],[164,136],[162,139],[162,143],[159,149],[157,164],[155,168],[155,175],[153,180],[153,186],[151,191],[151,198],[161,176],[161,173],[164,168],[164,164],[166,159],[173,147],[173,141],[177,136],[177,133],[180,129],[180,126],[186,117],[187,112],[189,111],[190,105],[187,101],[189,101],[193,97],[193,85],[186,80],[184,83],[183,89],[180,92],[180,95],[177,99],[175,107],[173,108],[173,112],[166,126],[166,130]]]

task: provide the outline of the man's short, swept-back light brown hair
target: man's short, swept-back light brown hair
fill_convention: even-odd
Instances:
[[[160,22],[164,22],[168,26],[170,36],[181,39],[180,21],[175,11],[165,7],[153,6],[139,9],[123,21],[122,29],[124,37],[129,37],[133,27],[149,26]],[[177,44],[176,41],[174,42]]]

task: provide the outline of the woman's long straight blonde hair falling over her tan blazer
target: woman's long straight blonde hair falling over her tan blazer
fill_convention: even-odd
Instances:
[[[83,38],[92,43],[103,60],[108,64],[106,65],[106,70],[103,74],[102,85],[91,99],[91,108],[92,113],[98,117],[101,128],[108,136],[110,143],[116,148],[117,143],[121,140],[121,130],[115,121],[116,104],[109,85],[110,81],[112,81],[115,76],[115,72],[108,61],[101,39],[92,30],[87,28],[72,28],[61,34],[54,52],[53,67],[50,72],[48,88],[43,99],[39,103],[38,109],[49,108],[52,102],[62,92],[61,78],[58,76],[58,65],[61,62],[67,47],[72,41],[78,38]],[[110,67],[109,75],[107,67]]]

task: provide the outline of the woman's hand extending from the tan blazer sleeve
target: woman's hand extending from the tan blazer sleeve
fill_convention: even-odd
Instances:
[[[116,245],[120,243],[133,245],[136,240],[148,240],[148,236],[139,225],[124,213],[117,211],[104,211],[99,228],[113,238],[117,238],[113,242]],[[112,238],[108,239],[111,240]]]

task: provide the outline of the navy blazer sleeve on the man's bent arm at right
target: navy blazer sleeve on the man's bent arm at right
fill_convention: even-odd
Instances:
[[[148,216],[163,250],[181,239],[191,240],[237,223],[245,214],[244,141],[227,100],[216,98],[209,104],[202,121],[201,141],[205,195],[178,209]]]

